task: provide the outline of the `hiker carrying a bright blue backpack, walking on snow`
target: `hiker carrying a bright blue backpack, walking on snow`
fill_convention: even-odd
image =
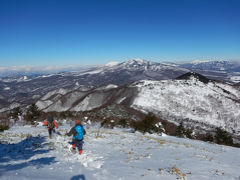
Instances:
[[[76,152],[76,147],[78,149],[79,154],[82,154],[82,145],[83,145],[83,136],[86,134],[83,125],[81,124],[80,120],[75,121],[75,126],[71,128],[71,130],[66,133],[65,135],[71,136],[73,135],[72,139],[72,150]]]

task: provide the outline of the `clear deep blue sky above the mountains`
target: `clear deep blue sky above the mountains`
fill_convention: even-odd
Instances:
[[[0,0],[0,66],[240,59],[239,0]]]

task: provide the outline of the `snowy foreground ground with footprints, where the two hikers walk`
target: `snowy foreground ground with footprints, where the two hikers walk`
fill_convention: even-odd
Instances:
[[[89,123],[91,124],[91,123]],[[239,149],[128,129],[85,125],[83,154],[69,151],[71,126],[52,139],[43,126],[0,133],[1,180],[238,180]]]

